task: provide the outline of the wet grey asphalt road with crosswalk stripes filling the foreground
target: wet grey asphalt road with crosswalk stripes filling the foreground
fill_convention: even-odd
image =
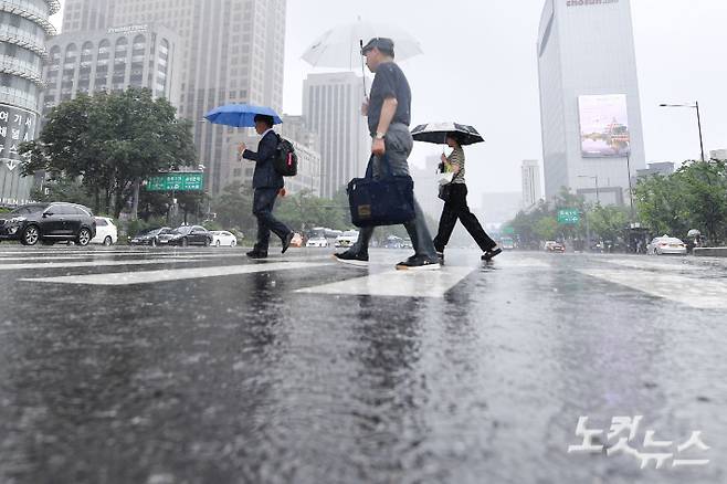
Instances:
[[[727,482],[726,262],[331,252],[0,244],[0,482]]]

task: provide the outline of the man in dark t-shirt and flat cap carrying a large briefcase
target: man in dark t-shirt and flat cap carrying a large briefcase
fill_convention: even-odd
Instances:
[[[362,106],[368,115],[371,134],[371,169],[379,176],[381,157],[387,156],[392,175],[409,175],[407,159],[413,147],[409,133],[411,123],[411,88],[401,69],[393,62],[393,41],[391,39],[371,39],[361,50],[369,70],[376,73],[371,85],[370,101]],[[397,264],[398,270],[440,269],[439,257],[432,238],[424,222],[424,214],[414,200],[417,217],[404,223],[411,238],[414,255]],[[358,241],[346,252],[336,254],[340,262],[366,266],[369,262],[369,241],[373,228],[364,228]]]

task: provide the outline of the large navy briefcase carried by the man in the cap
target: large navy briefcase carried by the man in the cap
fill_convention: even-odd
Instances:
[[[391,175],[386,156],[380,178],[373,178],[371,160],[365,178],[354,178],[347,188],[351,222],[356,227],[398,225],[414,220],[414,181]]]

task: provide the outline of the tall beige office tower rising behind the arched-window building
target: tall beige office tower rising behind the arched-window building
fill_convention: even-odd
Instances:
[[[286,0],[67,0],[64,33],[165,24],[180,39],[179,114],[194,122],[208,189],[218,193],[236,164],[239,130],[203,122],[210,109],[251,103],[281,112]]]

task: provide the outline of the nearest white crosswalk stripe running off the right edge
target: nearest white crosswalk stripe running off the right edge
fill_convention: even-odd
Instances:
[[[645,271],[580,270],[581,274],[698,309],[727,309],[727,281]]]

